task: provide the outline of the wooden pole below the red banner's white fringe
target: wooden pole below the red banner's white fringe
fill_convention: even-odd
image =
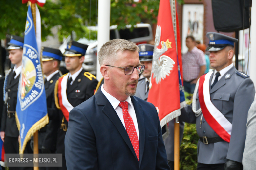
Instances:
[[[178,117],[174,123],[174,170],[180,170],[180,122]]]

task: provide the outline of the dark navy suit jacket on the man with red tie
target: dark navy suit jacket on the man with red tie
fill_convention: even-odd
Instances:
[[[154,105],[131,97],[139,127],[139,161],[116,111],[99,90],[69,113],[67,169],[170,170]]]

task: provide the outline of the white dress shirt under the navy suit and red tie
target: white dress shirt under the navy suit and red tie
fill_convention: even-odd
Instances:
[[[117,115],[118,115],[119,119],[121,120],[121,122],[122,122],[122,124],[125,128],[125,123],[124,123],[124,119],[123,119],[123,109],[120,106],[118,106],[120,101],[117,100],[112,95],[110,95],[108,92],[106,92],[105,89],[103,88],[103,86],[104,86],[104,84],[101,86],[102,93],[106,96],[106,98],[108,99],[110,104],[116,110]],[[136,117],[136,114],[135,114],[135,110],[134,110],[134,107],[133,107],[131,97],[130,96],[127,97],[127,99],[125,101],[128,102],[128,112],[129,112],[129,114],[131,115],[131,117],[133,119],[134,127],[135,127],[135,130],[136,130],[136,133],[137,133],[137,136],[138,136],[138,140],[139,140],[139,127],[138,127],[137,117]]]

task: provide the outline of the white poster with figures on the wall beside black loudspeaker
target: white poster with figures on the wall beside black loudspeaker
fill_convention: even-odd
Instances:
[[[182,54],[186,53],[186,37],[193,36],[195,40],[203,43],[203,4],[184,4],[182,10]]]

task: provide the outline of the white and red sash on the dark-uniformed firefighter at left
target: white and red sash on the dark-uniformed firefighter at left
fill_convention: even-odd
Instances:
[[[68,82],[69,74],[70,73],[59,78],[59,84],[58,84],[59,106],[60,106],[61,111],[67,121],[69,121],[70,110],[72,110],[74,108],[69,103],[68,98],[67,98],[67,82]]]

